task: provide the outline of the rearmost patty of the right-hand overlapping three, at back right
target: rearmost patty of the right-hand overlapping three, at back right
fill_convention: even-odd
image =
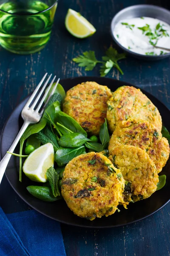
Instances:
[[[130,119],[147,120],[161,132],[161,115],[155,105],[140,89],[133,86],[119,87],[108,100],[107,120],[111,132],[120,121]]]

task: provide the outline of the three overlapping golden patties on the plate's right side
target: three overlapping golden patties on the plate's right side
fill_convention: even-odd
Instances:
[[[108,100],[107,121],[113,132],[109,159],[125,179],[125,201],[139,201],[156,191],[158,173],[170,148],[161,135],[161,115],[139,89],[119,87]]]

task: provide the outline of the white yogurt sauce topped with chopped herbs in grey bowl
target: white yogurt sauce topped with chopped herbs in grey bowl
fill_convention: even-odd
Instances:
[[[113,34],[123,47],[143,55],[168,53],[153,45],[170,48],[170,25],[150,17],[120,20]]]

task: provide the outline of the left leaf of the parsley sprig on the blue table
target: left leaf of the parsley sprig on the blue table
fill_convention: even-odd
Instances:
[[[73,58],[73,61],[79,63],[79,67],[85,67],[86,71],[93,70],[96,64],[101,62],[96,59],[94,51],[83,52],[83,55]]]

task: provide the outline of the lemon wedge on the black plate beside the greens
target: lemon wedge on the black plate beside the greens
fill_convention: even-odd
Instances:
[[[54,167],[54,148],[51,143],[34,150],[23,164],[23,172],[33,181],[46,182],[46,171]]]

